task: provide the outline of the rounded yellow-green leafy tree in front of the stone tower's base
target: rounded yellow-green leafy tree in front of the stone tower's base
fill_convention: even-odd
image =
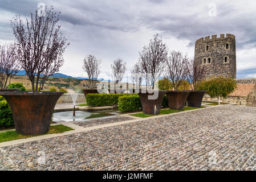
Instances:
[[[207,94],[213,98],[218,97],[218,104],[220,105],[220,97],[226,98],[228,94],[233,92],[237,88],[237,82],[234,78],[228,77],[225,78],[223,76],[213,77],[209,80],[202,81],[200,85],[198,85],[198,89],[207,90]]]

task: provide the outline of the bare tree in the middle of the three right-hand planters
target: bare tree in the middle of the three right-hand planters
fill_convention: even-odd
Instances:
[[[186,78],[187,60],[186,55],[182,55],[180,51],[170,51],[168,61],[166,61],[165,76],[172,81],[174,90],[178,90],[178,86]]]

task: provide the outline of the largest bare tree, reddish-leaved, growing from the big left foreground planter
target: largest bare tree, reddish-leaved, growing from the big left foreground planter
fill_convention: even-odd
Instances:
[[[32,92],[39,92],[47,78],[59,71],[64,63],[63,53],[69,45],[62,36],[59,14],[53,8],[44,16],[37,11],[26,18],[25,24],[18,15],[11,20],[18,45],[18,60],[32,84]]]

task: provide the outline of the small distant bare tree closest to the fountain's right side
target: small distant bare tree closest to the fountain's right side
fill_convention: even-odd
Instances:
[[[100,74],[100,63],[101,60],[94,55],[88,55],[84,58],[83,69],[87,72],[91,88],[95,86],[94,81],[97,80]]]

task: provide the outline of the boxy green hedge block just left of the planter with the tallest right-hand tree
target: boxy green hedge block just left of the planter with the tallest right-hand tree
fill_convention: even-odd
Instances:
[[[141,107],[139,96],[120,96],[118,99],[118,109],[120,112],[139,110]]]

